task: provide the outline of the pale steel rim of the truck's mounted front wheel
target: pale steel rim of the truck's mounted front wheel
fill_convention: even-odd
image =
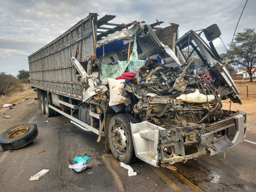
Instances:
[[[115,149],[120,153],[124,154],[127,149],[127,138],[123,128],[119,125],[114,127],[112,134],[112,142]]]

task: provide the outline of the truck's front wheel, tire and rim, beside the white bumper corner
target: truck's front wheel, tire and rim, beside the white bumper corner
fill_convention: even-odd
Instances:
[[[125,164],[136,160],[130,122],[136,120],[130,114],[118,114],[112,117],[109,124],[109,143],[114,157]]]

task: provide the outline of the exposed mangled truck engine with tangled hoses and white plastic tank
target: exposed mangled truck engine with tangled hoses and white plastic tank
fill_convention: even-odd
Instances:
[[[183,66],[165,63],[158,64],[156,56],[150,57],[136,78],[125,82],[126,110],[164,128],[210,124],[228,115],[221,110],[221,98],[228,97],[228,87],[213,67],[200,62]],[[191,100],[182,100],[182,94]]]

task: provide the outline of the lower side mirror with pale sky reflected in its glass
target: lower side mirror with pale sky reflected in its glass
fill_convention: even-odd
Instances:
[[[228,52],[220,37],[216,37],[209,42],[210,48],[217,59],[223,58]]]

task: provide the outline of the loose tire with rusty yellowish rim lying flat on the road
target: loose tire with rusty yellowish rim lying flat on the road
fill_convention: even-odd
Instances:
[[[37,135],[38,129],[35,124],[15,126],[0,134],[0,146],[4,150],[19,149],[33,142]]]

